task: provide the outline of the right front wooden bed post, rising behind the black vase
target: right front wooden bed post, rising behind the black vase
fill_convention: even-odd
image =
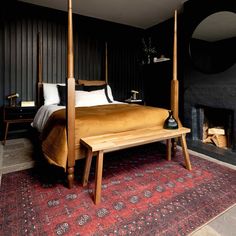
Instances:
[[[174,43],[173,43],[173,79],[171,81],[171,110],[174,118],[177,120],[179,127],[181,122],[179,120],[179,81],[177,79],[177,10],[174,15]],[[172,139],[173,155],[176,154],[177,142]]]

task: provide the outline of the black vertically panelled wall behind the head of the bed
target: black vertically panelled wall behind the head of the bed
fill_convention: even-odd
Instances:
[[[143,30],[79,15],[73,16],[75,79],[104,79],[108,43],[109,84],[118,100],[142,91],[139,48]],[[0,106],[18,92],[36,100],[37,34],[43,43],[43,81],[66,79],[67,13],[18,1],[0,10]]]

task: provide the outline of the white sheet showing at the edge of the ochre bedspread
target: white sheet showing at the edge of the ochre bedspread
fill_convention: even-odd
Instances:
[[[123,102],[119,102],[119,101],[113,101],[112,103],[106,103],[105,105],[110,105],[110,104],[122,104]],[[103,104],[100,104],[103,105]],[[86,105],[88,106],[88,105]],[[79,107],[83,107],[83,106],[79,106]],[[84,106],[85,107],[85,106]],[[43,105],[39,108],[39,110],[37,111],[33,122],[31,123],[31,126],[36,128],[38,130],[38,132],[42,132],[43,128],[48,120],[48,118],[50,117],[50,115],[57,110],[63,109],[65,108],[65,106],[58,106],[58,105]]]

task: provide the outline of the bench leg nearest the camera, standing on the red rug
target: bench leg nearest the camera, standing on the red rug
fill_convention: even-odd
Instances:
[[[94,202],[97,205],[101,201],[102,191],[102,169],[103,169],[103,151],[99,151],[96,162],[96,175],[95,175],[95,195]]]

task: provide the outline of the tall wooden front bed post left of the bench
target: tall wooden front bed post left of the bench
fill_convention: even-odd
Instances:
[[[74,182],[75,166],[75,79],[74,79],[74,54],[73,54],[73,23],[72,0],[68,0],[68,39],[67,39],[67,180],[69,188]]]

